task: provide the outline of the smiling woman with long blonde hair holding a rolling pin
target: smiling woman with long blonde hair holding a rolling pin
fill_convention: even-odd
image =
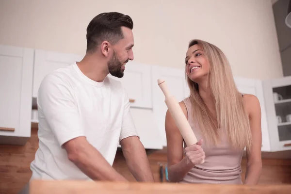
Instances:
[[[167,111],[169,180],[242,184],[241,160],[245,147],[247,169],[244,184],[257,184],[262,168],[258,98],[238,92],[226,56],[208,42],[192,40],[185,65],[191,95],[179,104],[198,142],[186,146]]]

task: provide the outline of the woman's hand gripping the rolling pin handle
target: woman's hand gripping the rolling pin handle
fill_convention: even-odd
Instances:
[[[187,162],[192,163],[193,166],[204,162],[205,153],[201,147],[203,140],[199,140],[197,144],[187,146],[185,148],[185,156],[188,159]]]

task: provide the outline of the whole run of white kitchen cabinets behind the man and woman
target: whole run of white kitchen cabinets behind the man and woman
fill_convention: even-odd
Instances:
[[[82,56],[76,54],[0,45],[0,81],[5,83],[0,85],[0,107],[3,107],[0,144],[26,144],[31,137],[32,123],[38,122],[35,99],[42,79],[49,72],[81,59]],[[178,101],[189,96],[182,67],[129,61],[125,76],[118,79],[128,92],[131,114],[146,149],[166,146],[164,119],[167,107],[158,79],[166,81]],[[234,79],[241,93],[259,98],[261,150],[265,153],[291,150],[291,76],[270,80]]]

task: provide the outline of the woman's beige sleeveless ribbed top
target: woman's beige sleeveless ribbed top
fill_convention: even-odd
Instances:
[[[183,101],[188,112],[188,122],[199,141],[202,136],[199,129],[194,125],[190,99],[188,97]],[[205,146],[205,139],[203,139],[202,148],[205,152],[205,162],[195,165],[180,181],[181,183],[242,184],[241,161],[243,149],[232,149],[227,142],[226,133],[223,129],[217,130],[221,138],[220,144],[218,146]]]

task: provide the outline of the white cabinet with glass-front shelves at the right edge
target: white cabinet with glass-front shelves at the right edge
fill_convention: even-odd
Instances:
[[[291,76],[263,81],[271,151],[291,149]],[[290,116],[288,116],[290,115]]]

